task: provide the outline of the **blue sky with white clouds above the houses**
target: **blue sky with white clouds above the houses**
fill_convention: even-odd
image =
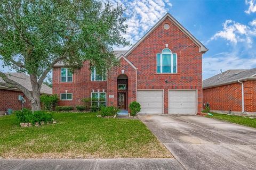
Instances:
[[[123,36],[131,44],[135,44],[169,12],[209,48],[203,55],[203,79],[220,73],[220,70],[223,72],[256,67],[256,0],[110,2],[123,5],[127,9],[124,15],[128,18],[128,29]],[[0,71],[8,71],[8,68],[0,67]]]

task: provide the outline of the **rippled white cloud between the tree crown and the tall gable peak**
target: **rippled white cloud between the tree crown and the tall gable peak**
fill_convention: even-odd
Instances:
[[[128,16],[126,21],[128,29],[127,33],[123,36],[129,40],[131,44],[135,44],[145,35],[145,33],[169,11],[169,8],[172,7],[169,0],[111,0],[110,2],[123,5],[127,9],[125,15]],[[125,47],[122,49],[129,48],[130,47]]]

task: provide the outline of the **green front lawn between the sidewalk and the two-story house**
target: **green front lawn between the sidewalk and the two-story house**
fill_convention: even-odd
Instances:
[[[21,128],[0,117],[0,158],[170,158],[139,120],[54,113],[57,124]]]

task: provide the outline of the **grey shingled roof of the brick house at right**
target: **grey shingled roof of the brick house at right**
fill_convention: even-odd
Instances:
[[[256,80],[256,68],[250,70],[228,70],[203,81],[203,89],[235,83],[237,81]]]

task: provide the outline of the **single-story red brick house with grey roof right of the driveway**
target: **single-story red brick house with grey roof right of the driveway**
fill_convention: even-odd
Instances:
[[[212,112],[256,113],[256,68],[228,70],[203,81],[203,103]]]

